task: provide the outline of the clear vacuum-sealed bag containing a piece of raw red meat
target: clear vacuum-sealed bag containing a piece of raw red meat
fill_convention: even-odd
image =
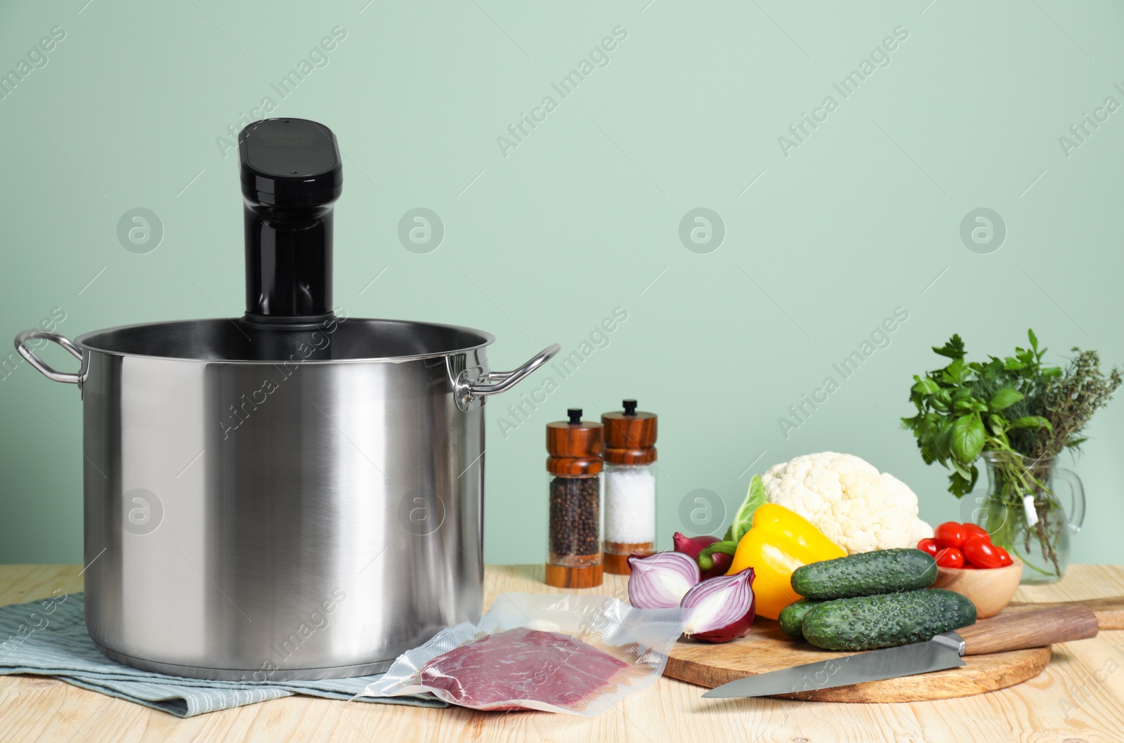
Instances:
[[[472,709],[599,715],[663,673],[681,609],[636,609],[607,596],[502,594],[395,661],[361,697],[428,691]]]

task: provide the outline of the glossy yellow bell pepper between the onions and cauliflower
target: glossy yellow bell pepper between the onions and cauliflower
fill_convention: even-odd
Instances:
[[[758,616],[776,619],[781,609],[801,598],[792,590],[792,571],[845,555],[846,550],[799,514],[777,504],[762,504],[753,511],[752,526],[737,543],[726,574],[753,568]]]

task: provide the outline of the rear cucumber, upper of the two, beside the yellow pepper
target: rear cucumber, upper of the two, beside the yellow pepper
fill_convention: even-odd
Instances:
[[[876,550],[801,565],[792,590],[805,598],[830,600],[927,588],[936,580],[936,561],[921,550]]]

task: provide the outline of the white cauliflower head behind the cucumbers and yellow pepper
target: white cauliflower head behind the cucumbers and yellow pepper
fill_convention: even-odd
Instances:
[[[769,468],[761,482],[769,502],[804,516],[850,554],[912,547],[933,536],[909,486],[853,454],[797,456]]]

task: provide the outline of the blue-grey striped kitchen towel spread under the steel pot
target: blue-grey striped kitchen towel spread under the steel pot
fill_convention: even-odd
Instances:
[[[382,677],[247,683],[153,673],[109,660],[85,632],[81,594],[0,607],[0,674],[49,676],[83,689],[179,717],[305,694],[348,700]],[[361,697],[360,701],[445,707],[432,696]]]

